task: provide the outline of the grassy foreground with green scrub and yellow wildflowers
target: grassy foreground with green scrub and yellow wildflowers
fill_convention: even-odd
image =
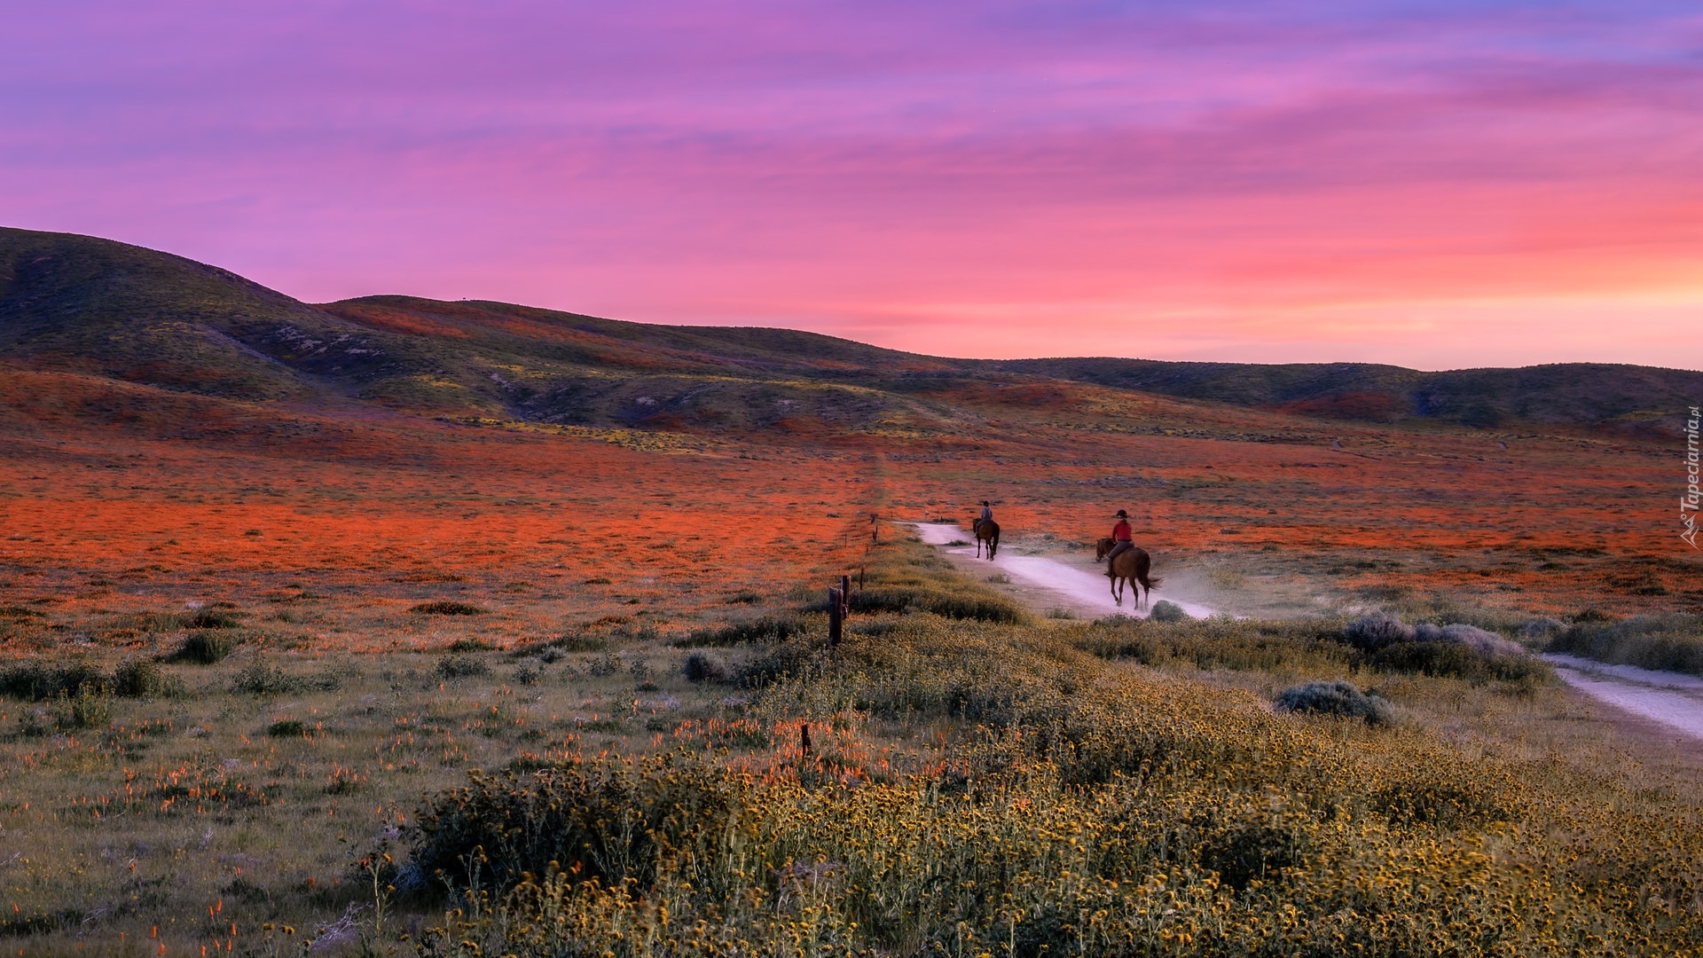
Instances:
[[[232,610],[204,610],[163,624],[187,638],[158,661],[95,648],[14,663],[0,941],[26,955],[1703,946],[1696,770],[1616,755],[1541,665],[1381,656],[1333,619],[1035,620],[892,540],[865,574],[869,610],[834,649],[795,598],[693,629],[364,653],[267,646]],[[930,610],[940,597],[957,603]],[[1272,706],[1306,682],[1345,682],[1386,711]]]

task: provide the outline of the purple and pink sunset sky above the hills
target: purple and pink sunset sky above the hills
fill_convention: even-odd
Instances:
[[[1703,368],[1679,0],[0,0],[0,225],[949,356]]]

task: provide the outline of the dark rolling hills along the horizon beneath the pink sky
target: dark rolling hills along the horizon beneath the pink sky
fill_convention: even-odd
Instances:
[[[112,240],[0,228],[0,361],[254,401],[356,399],[548,423],[710,430],[949,423],[967,384],[1073,382],[1281,413],[1671,428],[1703,373],[1550,365],[952,360],[814,332],[622,322],[496,302],[308,305]]]

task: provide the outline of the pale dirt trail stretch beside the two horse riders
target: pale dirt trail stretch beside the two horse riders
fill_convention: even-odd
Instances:
[[[952,545],[952,542],[969,542],[972,537],[969,532],[952,522],[916,522],[911,523],[923,542],[930,545],[938,545],[947,556],[959,559],[967,559],[976,563],[976,545]],[[1148,610],[1136,610],[1134,600],[1126,593],[1122,609],[1112,602],[1110,590],[1107,586],[1105,573],[1098,564],[1088,563],[1085,557],[1075,563],[1061,559],[1056,556],[1013,556],[1010,552],[1000,552],[991,563],[979,561],[974,566],[964,568],[991,574],[995,571],[1005,573],[1012,585],[1017,585],[1020,598],[1025,598],[1030,605],[1041,605],[1044,609],[1035,609],[1037,612],[1046,612],[1047,609],[1068,609],[1078,615],[1114,615],[1122,612],[1124,615],[1134,615],[1144,619]],[[1022,588],[1027,586],[1027,588]],[[1168,581],[1165,586],[1153,592],[1153,602],[1167,600],[1180,605],[1184,612],[1194,615],[1196,619],[1204,619],[1207,615],[1218,614],[1218,609],[1202,605],[1190,598],[1184,598],[1182,590],[1173,588]]]

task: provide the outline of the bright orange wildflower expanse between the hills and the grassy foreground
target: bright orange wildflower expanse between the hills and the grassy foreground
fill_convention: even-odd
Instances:
[[[0,387],[0,603],[41,614],[12,641],[44,648],[135,644],[102,615],[209,602],[318,609],[278,622],[279,639],[342,649],[686,627],[855,573],[872,515],[891,535],[983,498],[1020,547],[1081,551],[1127,508],[1161,568],[1350,603],[1563,615],[1703,597],[1671,508],[1674,447],[1649,438],[1369,426],[1092,387],[928,397],[976,419],[886,435],[339,416],[65,373]],[[501,614],[407,612],[462,598]]]

